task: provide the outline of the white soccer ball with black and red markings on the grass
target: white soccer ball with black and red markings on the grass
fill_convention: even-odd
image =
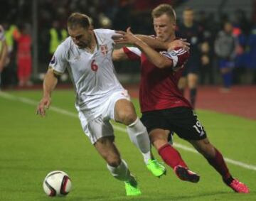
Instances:
[[[68,195],[71,190],[71,180],[68,174],[63,171],[50,172],[43,180],[43,190],[48,196]]]

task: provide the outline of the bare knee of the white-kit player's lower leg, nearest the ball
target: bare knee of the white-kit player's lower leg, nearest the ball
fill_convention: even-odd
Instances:
[[[118,166],[121,158],[117,147],[114,144],[114,136],[105,136],[99,138],[94,144],[100,156],[107,161],[109,165]]]

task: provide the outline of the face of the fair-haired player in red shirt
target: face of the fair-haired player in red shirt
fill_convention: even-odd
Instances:
[[[156,38],[161,41],[171,40],[171,36],[174,35],[174,29],[176,24],[166,14],[154,18],[154,31],[156,32]]]

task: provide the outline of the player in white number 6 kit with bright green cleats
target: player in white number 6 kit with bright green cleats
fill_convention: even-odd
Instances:
[[[142,152],[151,173],[160,176],[166,170],[151,158],[146,128],[137,117],[129,94],[115,75],[112,37],[116,33],[108,29],[93,30],[90,19],[82,13],[70,15],[68,33],[70,37],[58,46],[50,61],[37,114],[45,116],[58,75],[67,69],[75,87],[75,107],[83,131],[107,162],[107,169],[114,178],[124,181],[127,195],[140,195],[137,180],[129,172],[127,163],[114,145],[110,119],[127,126],[129,138]]]

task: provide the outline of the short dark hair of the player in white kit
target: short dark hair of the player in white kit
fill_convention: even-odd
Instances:
[[[76,26],[80,26],[82,28],[89,28],[91,25],[90,18],[82,13],[72,13],[68,17],[68,27],[75,28]]]

